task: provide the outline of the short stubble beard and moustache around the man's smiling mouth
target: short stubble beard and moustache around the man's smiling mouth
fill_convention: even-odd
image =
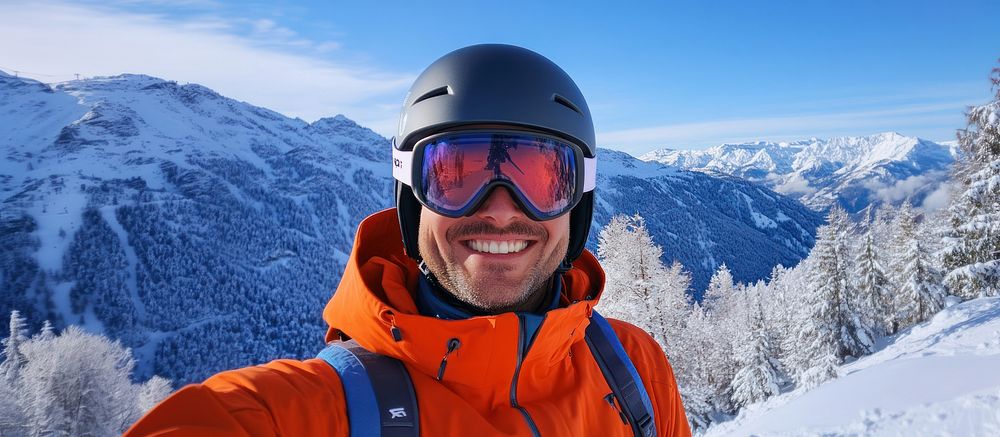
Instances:
[[[459,237],[477,232],[484,233],[483,231],[489,228],[492,228],[492,231],[485,233],[502,234],[505,231],[514,231],[514,229],[511,229],[512,226],[500,230],[483,223],[475,223],[467,226],[457,225],[448,231],[445,243],[450,248],[452,247],[452,243]],[[530,225],[521,224],[517,227],[517,230],[522,233],[528,233],[524,232],[526,228],[533,229],[531,232],[533,235],[539,235],[540,232],[541,235],[539,236],[541,239],[536,244],[544,245],[547,243],[548,235],[544,228],[538,231]],[[521,281],[504,279],[506,274],[514,270],[514,268],[502,264],[487,266],[485,267],[486,271],[478,272],[478,278],[471,277],[465,271],[462,264],[455,258],[455,254],[452,251],[449,250],[447,253],[441,253],[438,250],[438,247],[434,244],[433,237],[424,229],[420,231],[418,246],[424,263],[427,264],[427,268],[445,291],[455,296],[458,300],[485,313],[499,314],[508,311],[525,310],[525,305],[533,297],[541,298],[540,295],[545,294],[550,286],[549,279],[562,261],[561,254],[566,253],[569,242],[562,241],[559,247],[556,247],[553,251],[551,259],[540,259],[538,262],[532,263],[532,267]],[[501,289],[505,292],[498,293]],[[495,299],[498,295],[510,296],[510,298],[505,300]]]

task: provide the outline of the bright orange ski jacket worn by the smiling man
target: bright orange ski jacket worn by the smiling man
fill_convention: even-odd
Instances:
[[[330,325],[326,340],[343,334],[401,360],[417,394],[422,435],[530,436],[516,402],[542,436],[630,436],[617,406],[605,400],[611,389],[583,337],[604,272],[589,252],[573,265],[563,276],[560,307],[545,314],[517,370],[516,314],[441,320],[417,312],[412,290],[420,272],[403,253],[395,210],[385,210],[358,228],[343,279],[323,311]],[[659,435],[691,435],[662,349],[645,331],[609,321],[652,399]],[[400,341],[393,339],[393,327]],[[447,354],[453,338],[461,345]],[[184,387],[126,435],[347,437],[349,424],[344,391],[330,365],[276,360]]]

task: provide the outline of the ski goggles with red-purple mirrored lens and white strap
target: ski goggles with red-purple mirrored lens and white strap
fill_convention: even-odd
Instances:
[[[445,132],[412,151],[393,148],[393,177],[431,211],[471,215],[496,187],[506,187],[532,220],[565,214],[594,189],[597,160],[565,140],[533,132]]]

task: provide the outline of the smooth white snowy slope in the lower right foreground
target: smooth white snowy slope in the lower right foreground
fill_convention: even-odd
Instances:
[[[1000,435],[1000,298],[946,308],[883,346],[706,435]]]

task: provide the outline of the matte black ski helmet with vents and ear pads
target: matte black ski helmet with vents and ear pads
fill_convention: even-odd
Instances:
[[[434,61],[406,94],[392,145],[412,150],[428,136],[475,126],[538,131],[580,146],[588,158],[597,153],[594,122],[576,83],[548,58],[517,46],[479,44]],[[420,211],[411,188],[396,181],[403,247],[418,261]],[[583,252],[593,213],[594,192],[588,191],[570,212],[566,261]]]

